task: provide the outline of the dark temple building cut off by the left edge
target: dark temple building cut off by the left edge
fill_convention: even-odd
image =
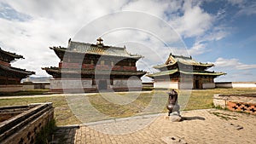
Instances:
[[[35,72],[11,66],[10,62],[17,59],[24,59],[24,57],[0,48],[0,91],[18,91],[21,89],[20,80],[35,74]]]

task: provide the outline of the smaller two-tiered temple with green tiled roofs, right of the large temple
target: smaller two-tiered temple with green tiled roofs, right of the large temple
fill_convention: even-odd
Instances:
[[[214,78],[224,75],[224,72],[210,72],[209,63],[198,62],[192,57],[169,55],[164,64],[153,66],[160,72],[148,74],[154,79],[154,88],[165,89],[210,89],[215,88]]]

